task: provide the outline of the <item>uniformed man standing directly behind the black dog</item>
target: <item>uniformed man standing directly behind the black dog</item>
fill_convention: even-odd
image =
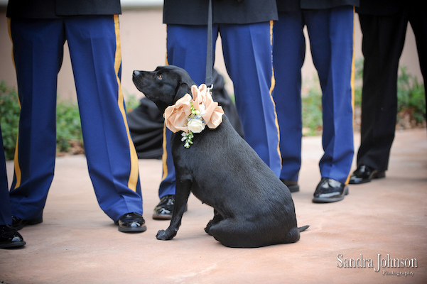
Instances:
[[[196,84],[205,83],[208,4],[208,0],[165,0],[163,6],[163,23],[168,25],[168,64],[185,69]],[[275,20],[274,0],[212,0],[212,50],[215,54],[215,41],[220,35],[244,138],[279,176],[279,129],[271,97],[271,28]],[[154,219],[172,216],[175,169],[170,138],[171,131],[166,130],[161,202],[154,209]]]

